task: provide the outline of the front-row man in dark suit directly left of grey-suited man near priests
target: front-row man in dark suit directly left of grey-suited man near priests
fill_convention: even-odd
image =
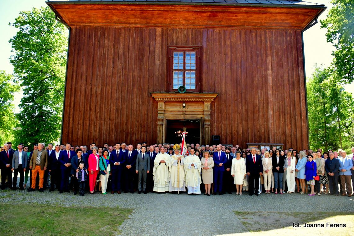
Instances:
[[[125,167],[124,169],[124,193],[130,191],[130,193],[134,193],[134,177],[135,177],[135,162],[137,157],[137,152],[133,151],[133,145],[128,145],[128,151],[124,153],[125,155]]]

